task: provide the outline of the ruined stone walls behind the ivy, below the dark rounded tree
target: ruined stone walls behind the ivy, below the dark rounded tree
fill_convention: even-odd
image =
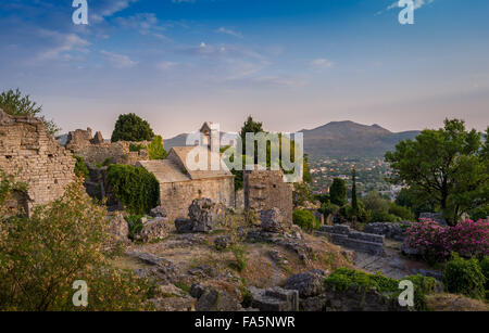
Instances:
[[[87,130],[77,129],[71,131],[67,136],[66,149],[73,154],[83,157],[91,169],[96,168],[98,164],[103,164],[108,158],[110,158],[111,163],[126,165],[134,165],[139,161],[149,159],[147,149],[131,152],[131,143],[146,146],[150,142],[108,142],[103,139],[100,131],[92,137],[91,129],[87,128]]]

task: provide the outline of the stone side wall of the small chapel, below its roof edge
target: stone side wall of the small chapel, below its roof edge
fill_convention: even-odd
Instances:
[[[188,207],[196,198],[210,198],[215,204],[233,208],[235,205],[233,177],[160,183],[161,206],[170,220],[188,218]]]

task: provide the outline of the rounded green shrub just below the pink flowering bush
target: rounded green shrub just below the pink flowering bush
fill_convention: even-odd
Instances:
[[[444,289],[449,293],[484,299],[486,278],[482,274],[477,259],[463,259],[453,254],[447,262],[442,278]]]

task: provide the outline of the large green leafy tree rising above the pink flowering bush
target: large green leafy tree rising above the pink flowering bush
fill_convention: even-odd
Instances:
[[[386,161],[393,169],[391,182],[436,200],[453,226],[463,213],[489,202],[488,151],[480,133],[467,131],[463,120],[447,119],[444,128],[401,141]]]

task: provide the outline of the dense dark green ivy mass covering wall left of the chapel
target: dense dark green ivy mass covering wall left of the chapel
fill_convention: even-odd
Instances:
[[[160,184],[154,175],[142,167],[113,164],[108,169],[108,182],[130,214],[149,214],[158,206]]]

